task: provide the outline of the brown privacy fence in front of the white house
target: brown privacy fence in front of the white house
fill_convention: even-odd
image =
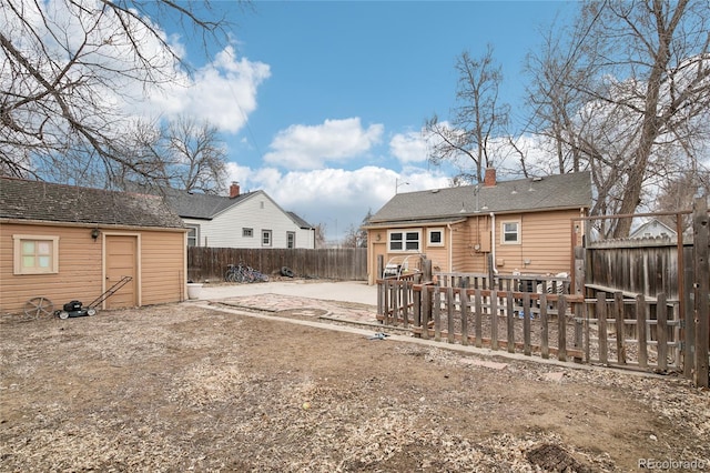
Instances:
[[[367,249],[244,249],[206,248],[187,249],[187,279],[192,281],[224,279],[229,264],[243,263],[274,275],[288,268],[301,278],[348,281],[367,280]]]

